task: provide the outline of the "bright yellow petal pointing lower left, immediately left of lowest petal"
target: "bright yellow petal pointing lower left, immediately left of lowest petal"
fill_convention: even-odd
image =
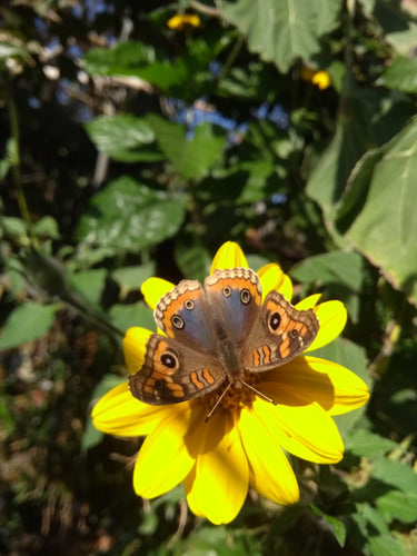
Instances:
[[[133,471],[133,488],[139,496],[155,498],[167,493],[190,471],[195,459],[183,444],[189,424],[189,404],[171,406],[167,418],[146,438]]]

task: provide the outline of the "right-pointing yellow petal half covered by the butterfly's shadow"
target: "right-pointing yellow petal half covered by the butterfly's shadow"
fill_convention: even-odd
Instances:
[[[368,388],[351,370],[318,357],[296,357],[279,369],[265,373],[260,390],[278,404],[317,401],[329,415],[363,406]]]

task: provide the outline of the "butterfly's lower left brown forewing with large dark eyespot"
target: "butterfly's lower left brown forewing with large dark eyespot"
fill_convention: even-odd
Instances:
[[[178,404],[218,388],[226,379],[215,357],[179,341],[150,336],[142,368],[129,377],[132,395],[151,405]]]

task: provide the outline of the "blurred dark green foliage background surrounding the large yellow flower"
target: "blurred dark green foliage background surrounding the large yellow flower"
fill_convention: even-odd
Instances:
[[[175,18],[176,16],[179,16]],[[187,16],[187,18],[185,17]],[[173,18],[173,19],[172,19]],[[417,554],[417,2],[0,7],[0,553]],[[373,385],[301,502],[214,527],[131,487],[102,437],[139,286],[225,240],[346,304],[320,350]]]

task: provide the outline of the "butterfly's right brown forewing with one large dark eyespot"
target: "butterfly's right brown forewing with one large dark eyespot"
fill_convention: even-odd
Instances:
[[[297,310],[281,294],[270,291],[241,350],[245,370],[259,373],[289,361],[310,346],[318,329],[312,309]]]

